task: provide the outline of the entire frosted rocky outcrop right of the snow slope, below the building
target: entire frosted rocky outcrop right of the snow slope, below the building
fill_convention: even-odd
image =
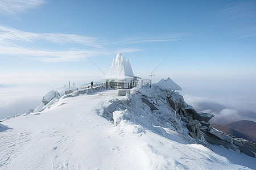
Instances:
[[[166,131],[160,126],[175,130],[192,143],[200,143],[208,148],[211,148],[210,144],[222,145],[256,157],[255,143],[210,128],[209,121],[213,114],[197,112],[185,103],[183,96],[177,92],[172,93],[171,90],[160,90],[157,87],[145,92],[140,89],[131,90],[127,98],[110,100],[102,107],[99,114],[113,121],[115,125],[123,120],[133,121],[135,124],[148,121],[149,129],[154,129],[167,138]]]

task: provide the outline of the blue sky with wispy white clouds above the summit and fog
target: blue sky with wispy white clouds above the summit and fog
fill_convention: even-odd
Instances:
[[[121,52],[142,78],[170,56],[154,81],[255,94],[255,40],[255,1],[3,1],[0,84],[100,80]]]

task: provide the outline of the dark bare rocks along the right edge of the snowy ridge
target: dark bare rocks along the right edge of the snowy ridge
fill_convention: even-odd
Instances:
[[[204,138],[207,142],[214,145],[222,145],[225,148],[240,151],[256,158],[255,143],[210,128],[209,120],[214,116],[213,114],[197,112],[191,105],[185,103],[182,96],[175,92],[168,98],[168,101],[172,109],[180,115],[181,121],[187,123],[191,137],[199,139],[199,141],[201,138]]]

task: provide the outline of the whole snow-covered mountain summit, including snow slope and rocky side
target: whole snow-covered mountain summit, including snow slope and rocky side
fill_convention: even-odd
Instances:
[[[51,91],[40,112],[1,122],[0,169],[256,168],[253,143],[210,128],[177,92],[117,94]]]

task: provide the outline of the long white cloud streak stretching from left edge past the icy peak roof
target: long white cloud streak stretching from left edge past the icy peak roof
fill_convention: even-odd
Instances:
[[[186,33],[174,33],[160,36],[134,36],[120,41],[102,41],[98,37],[34,33],[0,25],[0,54],[26,57],[42,62],[80,61],[93,56],[117,52],[133,53],[142,50],[131,44],[178,41],[185,40],[189,36],[191,35]],[[56,45],[59,48],[55,48]]]

